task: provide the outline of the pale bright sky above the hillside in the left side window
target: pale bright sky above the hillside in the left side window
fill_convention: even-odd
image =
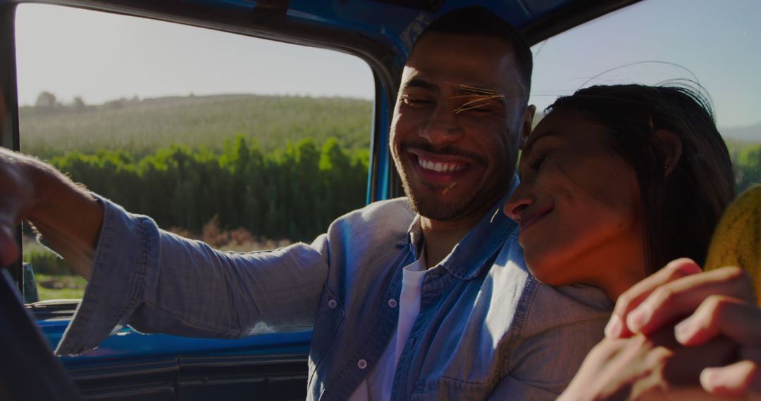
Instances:
[[[119,97],[259,93],[372,99],[352,55],[232,33],[51,5],[21,5],[19,98],[43,90],[86,103]]]

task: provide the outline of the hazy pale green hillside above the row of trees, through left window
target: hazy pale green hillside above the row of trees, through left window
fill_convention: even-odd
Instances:
[[[43,158],[70,150],[153,153],[185,144],[221,150],[237,134],[262,150],[312,137],[337,137],[349,149],[369,147],[372,102],[301,96],[215,95],[118,99],[97,106],[24,106],[21,149]]]

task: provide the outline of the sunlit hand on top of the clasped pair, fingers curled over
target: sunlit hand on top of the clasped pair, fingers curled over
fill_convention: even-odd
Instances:
[[[724,267],[702,273],[692,260],[674,260],[619,297],[605,341],[634,333],[651,337],[659,330],[673,333],[693,352],[702,367],[700,384],[708,393],[761,399],[761,309],[743,270]],[[695,347],[718,339],[737,347],[731,360],[701,362]]]

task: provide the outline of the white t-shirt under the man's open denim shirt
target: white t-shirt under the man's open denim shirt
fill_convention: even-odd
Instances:
[[[368,378],[354,390],[349,401],[377,401],[391,399],[393,374],[407,343],[412,324],[420,313],[420,287],[428,270],[425,266],[425,251],[420,257],[402,270],[402,292],[399,295],[399,322],[386,350],[368,375]]]

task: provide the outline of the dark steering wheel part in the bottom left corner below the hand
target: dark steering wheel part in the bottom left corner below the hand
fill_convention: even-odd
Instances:
[[[11,275],[0,273],[0,399],[81,399],[24,308]]]

